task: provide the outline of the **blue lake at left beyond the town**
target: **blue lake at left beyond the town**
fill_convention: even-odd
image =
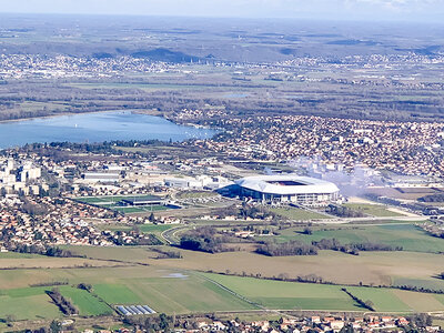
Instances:
[[[213,130],[178,125],[160,117],[113,111],[3,122],[0,123],[0,148],[59,141],[183,141],[206,139],[214,134]]]

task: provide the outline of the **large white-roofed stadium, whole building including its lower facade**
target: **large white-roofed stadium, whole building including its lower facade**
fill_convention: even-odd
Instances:
[[[332,182],[296,174],[248,176],[235,183],[240,198],[269,203],[322,205],[336,201],[340,192]]]

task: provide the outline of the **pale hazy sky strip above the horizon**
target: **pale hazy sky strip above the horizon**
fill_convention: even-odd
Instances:
[[[444,0],[0,0],[0,12],[444,20]]]

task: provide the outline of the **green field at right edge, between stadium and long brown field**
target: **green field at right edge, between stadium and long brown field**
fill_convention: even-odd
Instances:
[[[336,239],[343,244],[381,243],[402,246],[404,251],[443,252],[444,240],[433,238],[412,223],[387,223],[381,225],[342,225],[313,228],[312,234],[300,233],[301,229],[286,229],[276,236],[278,241],[300,240],[306,243],[322,239]]]

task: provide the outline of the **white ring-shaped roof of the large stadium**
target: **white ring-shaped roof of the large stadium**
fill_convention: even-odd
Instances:
[[[284,182],[290,182],[290,184],[284,184]],[[332,182],[316,178],[300,176],[297,174],[254,175],[240,179],[235,183],[248,190],[281,195],[331,194],[340,191]]]

